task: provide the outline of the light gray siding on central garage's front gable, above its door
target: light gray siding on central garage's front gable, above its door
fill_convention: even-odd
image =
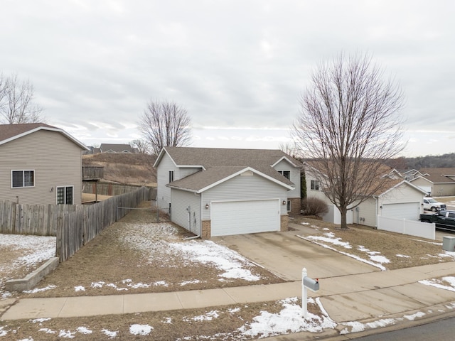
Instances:
[[[213,201],[261,199],[279,199],[282,202],[287,200],[287,189],[257,174],[237,175],[202,193],[202,219],[210,220],[210,209],[206,210],[205,204],[211,205]],[[280,210],[280,215],[287,215],[287,205],[280,205]]]

